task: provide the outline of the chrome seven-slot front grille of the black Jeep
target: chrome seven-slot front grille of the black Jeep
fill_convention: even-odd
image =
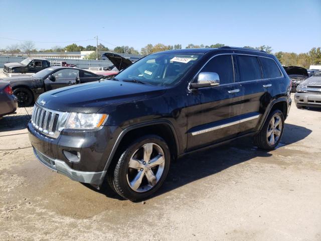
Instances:
[[[65,126],[67,117],[68,112],[47,109],[35,104],[31,123],[38,132],[48,137],[57,138]]]

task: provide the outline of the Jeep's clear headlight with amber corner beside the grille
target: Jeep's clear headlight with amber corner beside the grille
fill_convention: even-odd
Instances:
[[[96,129],[107,119],[107,114],[70,113],[66,129]]]

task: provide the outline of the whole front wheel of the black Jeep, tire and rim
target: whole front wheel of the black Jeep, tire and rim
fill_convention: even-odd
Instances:
[[[163,138],[143,136],[122,152],[114,171],[109,173],[108,183],[123,198],[145,199],[162,186],[170,159],[170,150]]]

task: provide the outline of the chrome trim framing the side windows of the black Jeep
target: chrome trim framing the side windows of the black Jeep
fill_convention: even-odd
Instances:
[[[247,81],[238,81],[238,82],[235,82],[235,70],[234,70],[234,60],[232,58],[232,63],[233,63],[233,75],[234,75],[234,82],[233,83],[227,83],[227,84],[220,84],[218,86],[210,86],[210,87],[205,87],[205,88],[200,88],[200,89],[208,89],[208,88],[217,88],[219,86],[226,86],[226,85],[232,85],[232,84],[239,84],[239,83],[250,83],[250,82],[254,82],[254,81],[262,81],[262,80],[269,80],[269,79],[280,79],[280,78],[283,78],[284,77],[284,74],[282,72],[282,70],[280,69],[279,65],[276,63],[276,61],[271,58],[271,57],[266,57],[266,56],[260,56],[260,55],[254,55],[254,54],[240,54],[240,53],[223,53],[223,54],[216,54],[216,55],[213,55],[208,61],[206,61],[206,63],[200,68],[200,70],[194,75],[194,77],[192,78],[192,80],[189,82],[189,85],[188,85],[188,90],[189,92],[192,92],[193,89],[190,88],[191,86],[191,83],[195,80],[195,78],[197,77],[197,75],[202,71],[202,69],[205,67],[205,65],[208,64],[208,62],[210,62],[213,58],[215,58],[216,56],[219,56],[219,55],[247,55],[247,56],[254,56],[254,57],[262,57],[262,58],[267,58],[267,59],[272,59],[274,61],[274,63],[276,64],[276,66],[278,67],[280,73],[281,73],[281,76],[279,77],[275,77],[275,78],[264,78],[264,79],[253,79],[253,80],[247,80]],[[259,61],[259,64],[261,66],[261,71],[262,71],[262,74],[263,74],[263,70],[262,70],[262,65],[261,65],[261,62]]]

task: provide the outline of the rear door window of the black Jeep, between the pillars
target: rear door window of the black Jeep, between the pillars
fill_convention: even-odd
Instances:
[[[262,79],[261,66],[257,57],[249,55],[236,55],[239,81]]]

